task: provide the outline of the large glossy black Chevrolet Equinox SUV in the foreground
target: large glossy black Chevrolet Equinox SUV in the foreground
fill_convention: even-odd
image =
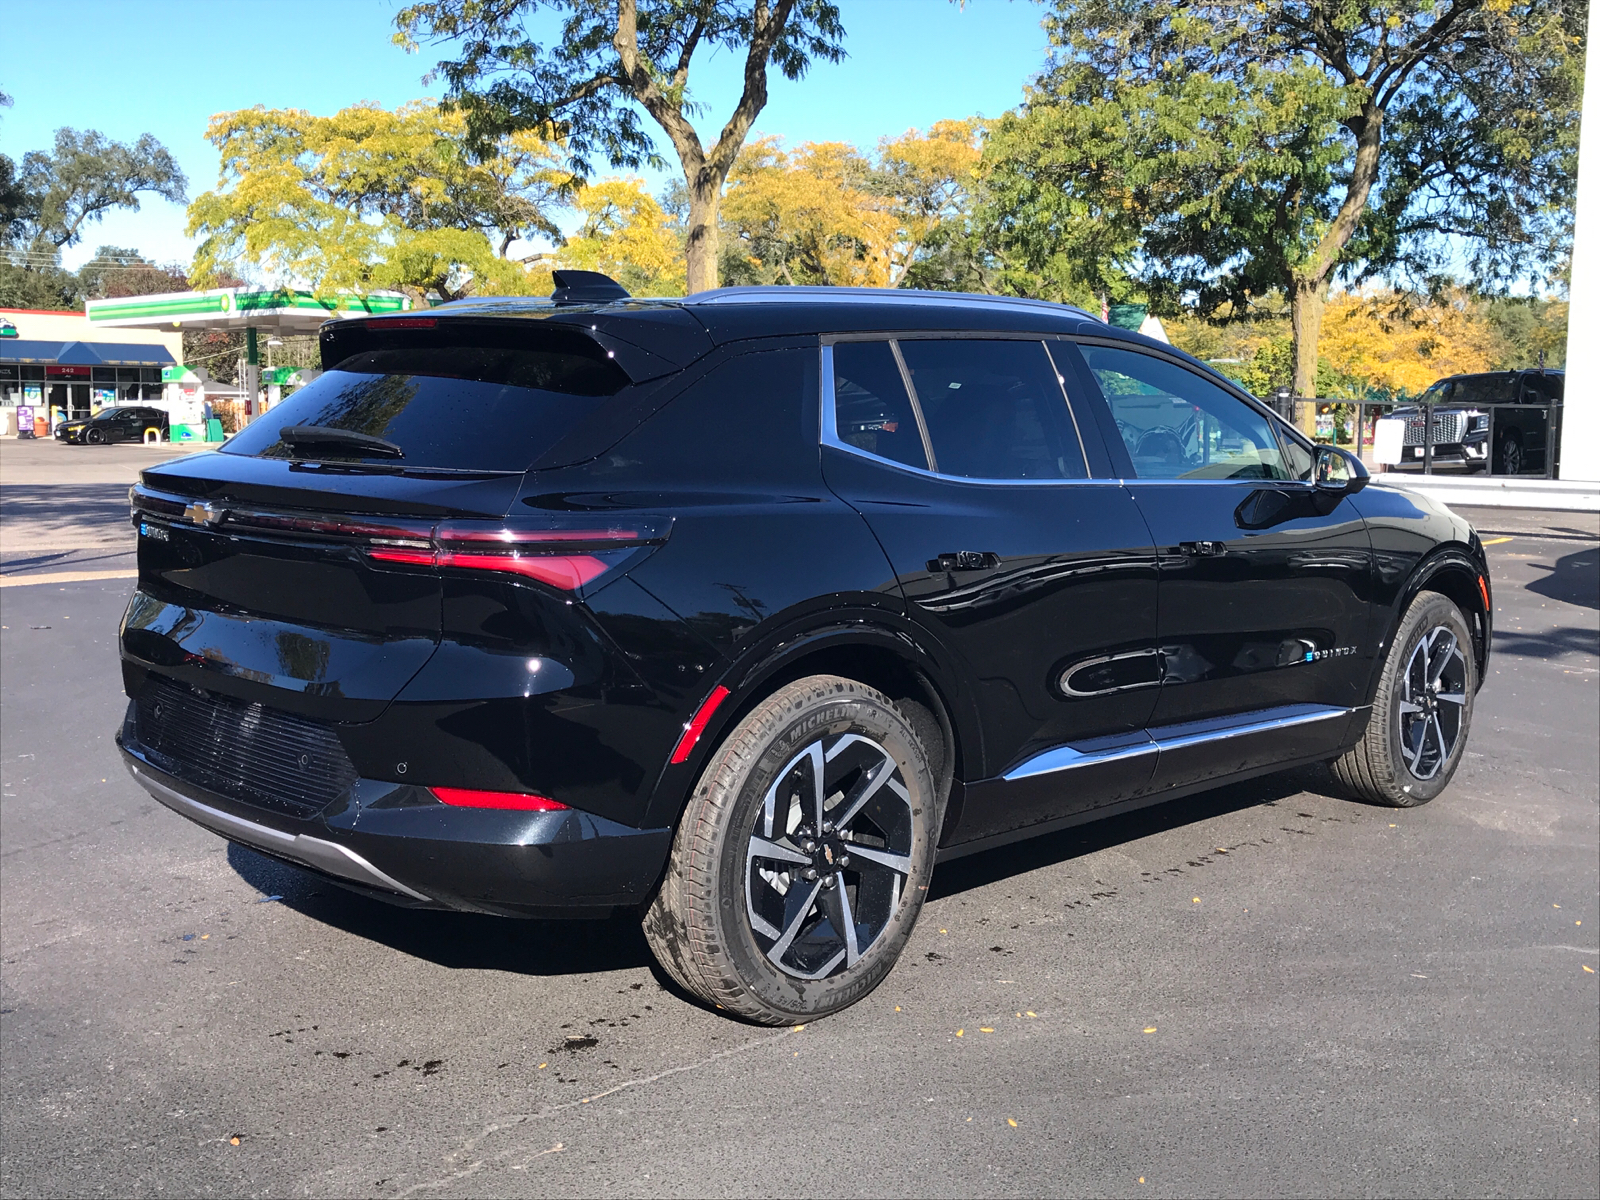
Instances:
[[[330,323],[133,490],[118,742],[398,904],[637,912],[690,994],[866,995],[934,864],[1298,763],[1418,805],[1472,528],[1054,304],[558,278]]]

